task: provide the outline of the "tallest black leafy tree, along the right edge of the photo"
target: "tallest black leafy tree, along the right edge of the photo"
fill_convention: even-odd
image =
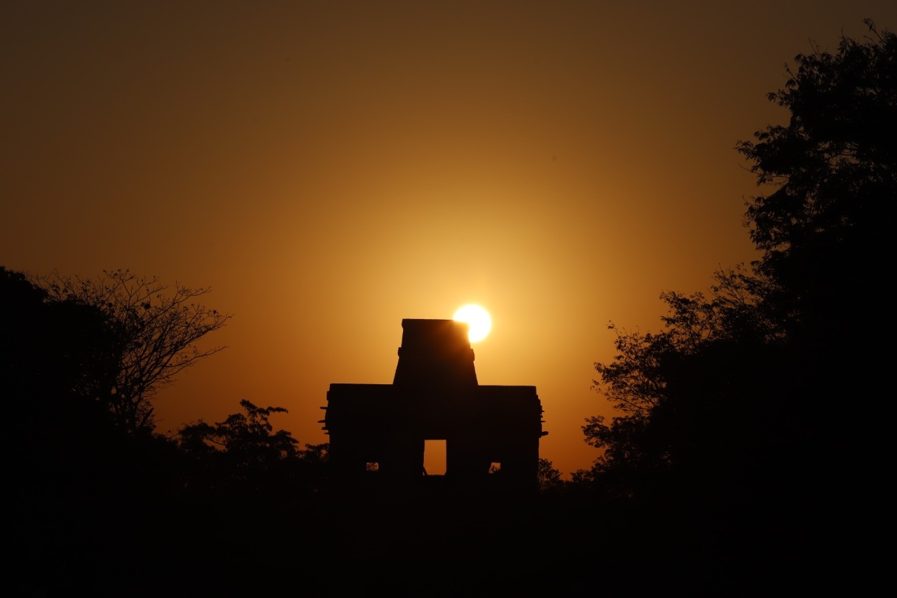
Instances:
[[[892,251],[897,197],[897,35],[866,24],[863,40],[797,56],[785,88],[769,96],[789,110],[788,126],[737,145],[768,190],[746,217],[763,251],[755,268],[771,282],[764,307],[787,333],[784,404],[806,408],[791,434],[816,446],[831,434],[832,412],[867,404],[891,369],[879,323],[890,293],[878,275]],[[872,419],[867,429],[845,427],[843,445],[882,453],[886,419]],[[839,464],[845,477],[857,470],[840,453],[827,467]],[[853,483],[862,482],[841,488]]]

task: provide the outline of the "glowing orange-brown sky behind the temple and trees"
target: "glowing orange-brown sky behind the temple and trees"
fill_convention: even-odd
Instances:
[[[158,430],[248,399],[303,444],[330,383],[392,382],[402,319],[479,303],[479,382],[537,387],[569,474],[608,323],[756,258],[736,142],[866,17],[897,4],[7,0],[0,265],[210,287],[228,348]]]

